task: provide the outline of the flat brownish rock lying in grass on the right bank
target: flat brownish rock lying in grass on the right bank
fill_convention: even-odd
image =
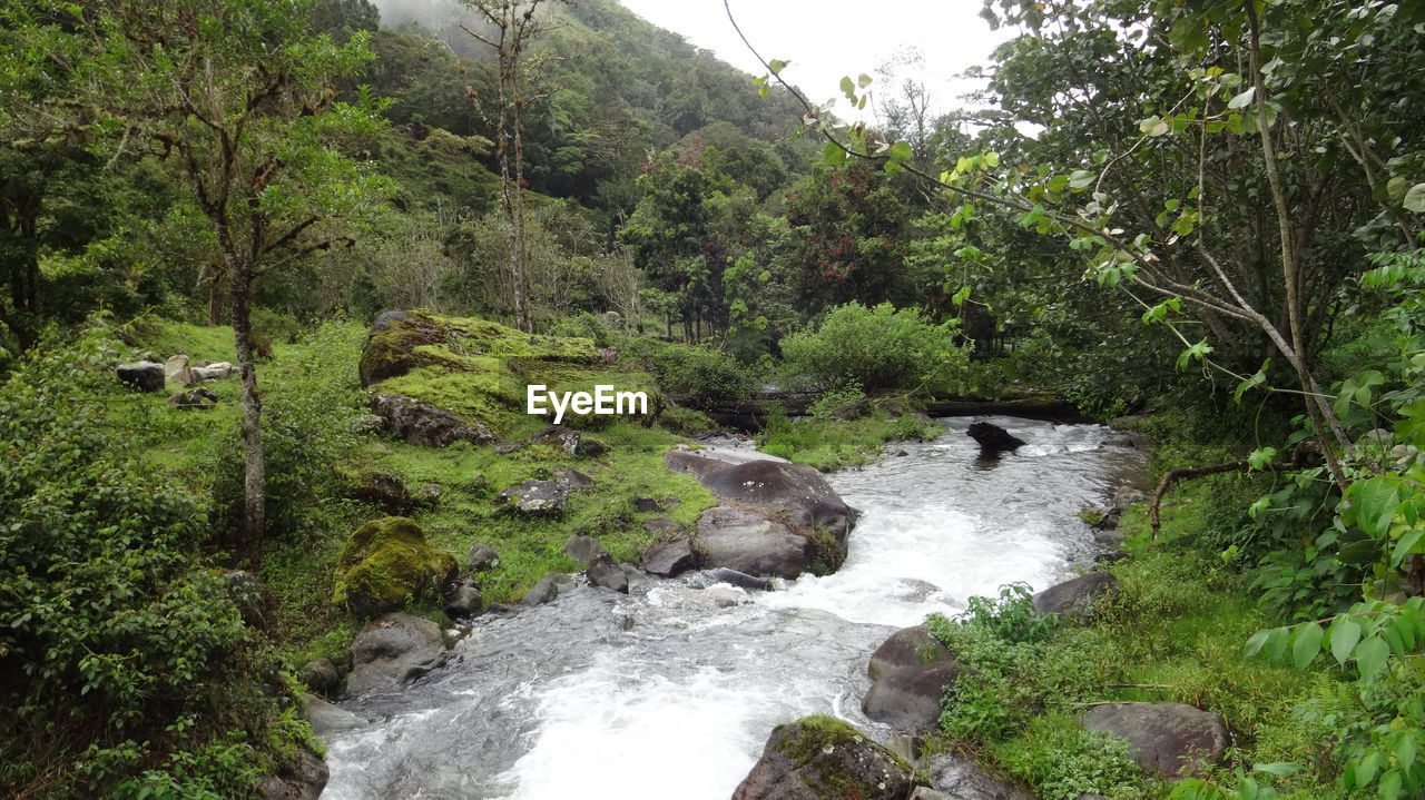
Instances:
[[[1231,743],[1221,715],[1186,703],[1104,703],[1079,720],[1127,740],[1143,772],[1166,780],[1201,774]]]

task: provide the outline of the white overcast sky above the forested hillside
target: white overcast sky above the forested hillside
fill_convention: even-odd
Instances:
[[[738,40],[722,0],[620,1],[741,70],[754,75],[767,71]],[[982,0],[730,0],[730,4],[742,33],[764,58],[791,61],[782,77],[812,102],[839,97],[842,75],[875,77],[882,61],[918,47],[926,63],[921,80],[933,107],[938,111],[960,107],[959,95],[975,87],[953,77],[966,67],[988,64],[990,51],[1010,33],[992,31],[979,17]],[[838,108],[838,114],[849,111]]]

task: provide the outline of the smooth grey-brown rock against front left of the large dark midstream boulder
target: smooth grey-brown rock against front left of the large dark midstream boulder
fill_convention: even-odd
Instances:
[[[817,558],[811,538],[757,511],[718,505],[698,517],[695,548],[708,567],[795,578]]]

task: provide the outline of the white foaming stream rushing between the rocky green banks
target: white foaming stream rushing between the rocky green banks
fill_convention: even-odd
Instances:
[[[871,652],[970,595],[1042,589],[1096,549],[1074,512],[1141,457],[1099,426],[995,417],[1029,444],[978,458],[968,419],[906,456],[836,473],[862,511],[846,564],[777,592],[640,578],[479,618],[450,663],[342,703],[323,800],[727,800],[772,726],[861,715]]]

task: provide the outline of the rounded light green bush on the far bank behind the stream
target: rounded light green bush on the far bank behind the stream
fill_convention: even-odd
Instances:
[[[838,306],[815,330],[782,339],[787,366],[822,386],[854,381],[865,390],[945,390],[969,357],[955,344],[953,323],[931,325],[891,303]]]

